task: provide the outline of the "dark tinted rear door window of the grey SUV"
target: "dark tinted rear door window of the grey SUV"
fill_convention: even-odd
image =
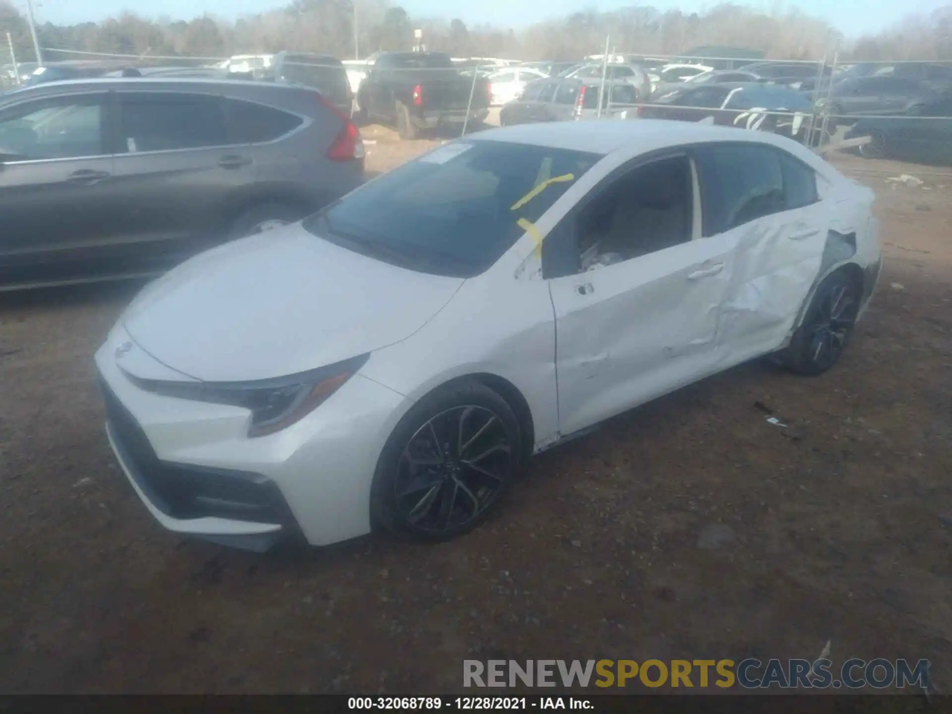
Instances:
[[[119,152],[201,149],[228,145],[217,97],[200,94],[120,95]]]

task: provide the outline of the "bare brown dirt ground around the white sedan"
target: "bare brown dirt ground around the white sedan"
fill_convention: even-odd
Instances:
[[[365,136],[372,171],[432,145]],[[927,658],[952,690],[952,178],[839,163],[883,170],[862,180],[887,261],[839,367],[748,364],[626,413],[443,545],[167,533],[113,463],[91,361],[139,286],[0,295],[0,692],[454,692],[466,658],[827,641],[839,663]]]

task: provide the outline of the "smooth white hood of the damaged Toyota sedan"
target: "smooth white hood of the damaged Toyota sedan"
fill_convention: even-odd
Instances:
[[[399,342],[463,282],[388,265],[297,224],[174,268],[135,298],[122,322],[168,367],[198,380],[243,382]]]

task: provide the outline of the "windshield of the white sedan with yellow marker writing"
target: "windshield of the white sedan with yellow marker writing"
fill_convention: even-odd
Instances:
[[[387,263],[472,277],[492,266],[598,154],[453,142],[308,218],[304,227]]]

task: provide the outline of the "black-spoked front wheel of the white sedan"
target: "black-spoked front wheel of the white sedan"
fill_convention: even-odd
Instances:
[[[521,441],[511,407],[486,385],[465,379],[430,392],[381,453],[370,495],[374,524],[431,542],[466,533],[506,492]]]

